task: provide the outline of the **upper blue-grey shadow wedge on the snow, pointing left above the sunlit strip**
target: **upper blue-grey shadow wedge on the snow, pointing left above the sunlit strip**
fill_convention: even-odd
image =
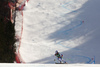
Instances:
[[[62,17],[66,20],[61,21],[59,23],[67,23],[67,20],[72,20],[71,24],[60,28],[54,33],[51,33],[47,39],[51,39],[54,41],[66,41],[73,38],[78,38],[80,36],[84,36],[85,34],[95,30],[95,25],[98,24],[100,16],[100,14],[98,14],[100,9],[98,6],[98,1],[89,0],[83,5],[81,9],[63,15]],[[79,15],[74,18],[67,19],[70,15],[74,15],[76,13],[79,13]],[[81,23],[82,21],[84,21],[84,23]]]

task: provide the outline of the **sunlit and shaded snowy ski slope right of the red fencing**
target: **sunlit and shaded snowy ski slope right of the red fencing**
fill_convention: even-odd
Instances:
[[[100,63],[100,0],[30,0],[23,11],[20,55],[54,64],[58,50],[70,64]],[[17,24],[16,24],[17,26]]]

